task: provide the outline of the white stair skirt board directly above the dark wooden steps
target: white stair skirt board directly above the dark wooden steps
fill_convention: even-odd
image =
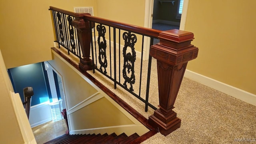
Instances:
[[[122,134],[123,132],[127,135],[130,136],[134,134],[134,129],[137,130],[143,130],[144,126],[137,126],[135,124],[131,125],[123,125],[123,126],[109,126],[109,127],[104,127],[104,128],[91,128],[91,129],[85,129],[85,130],[72,130],[69,132],[69,134],[112,134],[115,133],[117,135]],[[142,132],[136,132],[139,136],[145,134],[147,131],[142,131]]]

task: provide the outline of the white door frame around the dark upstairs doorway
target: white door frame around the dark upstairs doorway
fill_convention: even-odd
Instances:
[[[180,30],[185,30],[186,24],[186,17],[188,12],[188,1],[184,0],[183,8],[182,8],[182,15],[180,19]],[[145,28],[152,28],[152,21],[153,21],[153,8],[154,8],[154,0],[145,0],[145,15],[144,15],[144,27]],[[150,38],[144,38],[144,48],[143,50],[143,60],[148,60],[149,58],[149,51],[150,51]]]

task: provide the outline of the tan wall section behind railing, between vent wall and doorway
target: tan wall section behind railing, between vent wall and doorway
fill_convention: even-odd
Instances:
[[[124,22],[135,26],[144,26],[145,1],[144,0],[97,0],[98,17]],[[108,30],[108,28],[107,28]],[[108,31],[107,31],[108,33]],[[111,32],[112,34],[113,32]],[[124,45],[121,31],[120,43]],[[117,35],[118,37],[118,35]],[[106,39],[109,40],[108,34]],[[113,36],[111,37],[113,41]],[[118,38],[117,38],[118,42]],[[137,35],[135,50],[141,52],[142,36]]]

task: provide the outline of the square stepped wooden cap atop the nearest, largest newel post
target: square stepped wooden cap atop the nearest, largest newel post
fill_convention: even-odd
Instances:
[[[150,47],[150,56],[171,65],[181,64],[195,59],[198,48],[191,44],[192,32],[167,30],[160,32],[160,42]]]

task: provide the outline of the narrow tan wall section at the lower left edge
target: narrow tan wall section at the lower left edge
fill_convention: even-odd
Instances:
[[[1,144],[23,144],[22,134],[18,121],[12,107],[10,91],[13,88],[10,84],[10,78],[7,74],[6,67],[0,51],[0,143]]]

